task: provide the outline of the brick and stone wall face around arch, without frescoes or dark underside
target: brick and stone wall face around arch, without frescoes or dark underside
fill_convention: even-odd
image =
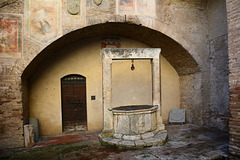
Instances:
[[[26,21],[24,21],[24,19],[28,20],[26,14],[29,11],[26,10],[26,7],[24,10],[24,5],[26,4],[24,2],[26,1],[16,0],[14,3],[1,5],[0,8],[1,15],[17,15],[22,17],[21,22],[23,22],[22,28],[19,30],[21,33],[19,42],[22,44],[20,58],[10,59],[1,57],[0,60],[0,146],[2,147],[23,146],[23,118],[25,115],[23,115],[22,111],[23,88],[21,75],[30,62],[54,41],[51,39],[42,43],[40,42],[42,40],[41,36],[34,37],[34,35],[29,35],[29,30],[25,28]],[[70,31],[95,24],[123,22],[154,29],[181,44],[197,62],[201,72],[195,75],[188,75],[178,71],[180,75],[180,106],[188,109],[188,122],[200,125],[203,124],[203,122],[209,122],[203,117],[203,114],[210,114],[209,108],[211,105],[207,0],[157,0],[153,5],[153,9],[150,9],[151,11],[148,9],[145,13],[139,13],[134,7],[134,10],[130,8],[130,11],[120,11],[121,13],[119,13],[115,0],[106,0],[100,6],[95,5],[93,1],[87,1],[86,4],[81,4],[83,7],[81,8],[81,15],[78,14],[76,16],[70,15],[67,12],[65,0],[57,2],[61,3],[63,7],[60,7],[61,12],[58,12],[59,14],[52,15],[53,19],[59,20],[59,24],[61,23],[61,25],[58,26],[59,32],[56,39]],[[46,2],[41,1],[40,3]],[[152,12],[152,10],[155,12]],[[81,18],[81,21],[78,21],[79,18]],[[122,31],[124,32],[124,29]],[[38,34],[39,33],[37,33],[37,35]],[[154,41],[158,40],[156,39]],[[150,47],[154,47],[154,45]],[[177,53],[177,51],[173,52]],[[175,58],[175,61],[183,59],[181,56]],[[173,65],[173,67],[175,66]],[[175,67],[175,69],[182,69],[181,71],[188,70],[185,65],[178,68]],[[189,84],[191,84],[191,87]],[[196,101],[188,101],[192,95],[196,97]]]

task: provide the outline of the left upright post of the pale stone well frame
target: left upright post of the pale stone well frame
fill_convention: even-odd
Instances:
[[[103,78],[103,131],[102,136],[113,134],[113,113],[112,113],[112,59],[106,58],[103,54],[102,78]]]

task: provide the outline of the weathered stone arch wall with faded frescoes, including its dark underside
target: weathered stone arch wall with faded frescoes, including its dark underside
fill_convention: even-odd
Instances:
[[[79,10],[73,11],[68,11],[66,0],[1,2],[0,15],[9,19],[6,22],[13,18],[19,22],[14,32],[9,31],[20,33],[14,36],[15,43],[8,43],[14,46],[9,45],[0,54],[1,147],[23,146],[23,123],[28,119],[27,78],[23,76],[26,84],[21,81],[24,70],[34,72],[34,67],[49,54],[56,54],[57,49],[74,40],[101,35],[123,36],[162,48],[162,55],[180,76],[180,101],[181,107],[187,109],[187,121],[209,124],[206,116],[211,114],[213,98],[209,83],[208,1],[149,0],[147,5],[140,0],[131,2],[104,0],[97,6],[90,0],[81,1]],[[81,30],[70,33],[76,29]]]

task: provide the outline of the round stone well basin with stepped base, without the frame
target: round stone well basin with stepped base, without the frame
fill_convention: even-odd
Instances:
[[[114,134],[105,138],[100,135],[101,143],[127,149],[163,145],[167,132],[157,128],[157,108],[156,105],[113,108]]]

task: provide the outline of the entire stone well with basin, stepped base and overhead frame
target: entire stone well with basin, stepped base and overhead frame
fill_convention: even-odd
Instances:
[[[103,63],[103,145],[142,148],[163,145],[167,140],[160,106],[160,48],[104,48]],[[150,59],[152,64],[152,105],[112,108],[112,61]]]

